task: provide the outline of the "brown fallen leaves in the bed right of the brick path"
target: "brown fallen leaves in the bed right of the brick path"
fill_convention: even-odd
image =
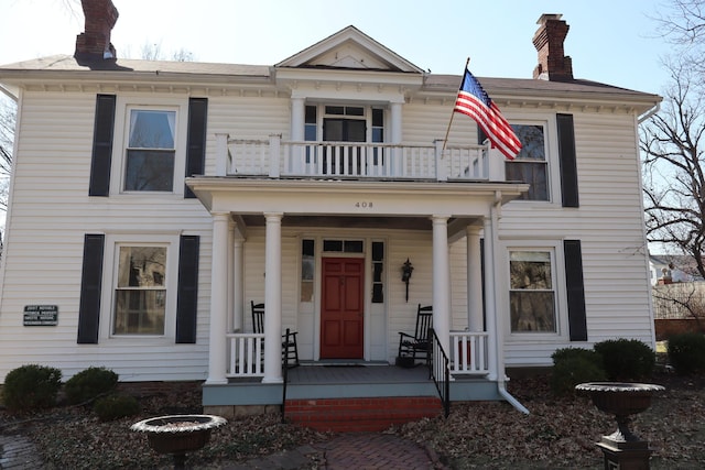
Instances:
[[[630,429],[654,450],[652,469],[705,467],[705,378],[658,375],[652,405],[633,416]],[[404,425],[400,434],[431,446],[456,469],[595,469],[603,452],[595,446],[617,429],[614,416],[585,395],[556,398],[549,378],[509,383],[509,392],[530,414],[505,402],[453,404],[451,416]]]

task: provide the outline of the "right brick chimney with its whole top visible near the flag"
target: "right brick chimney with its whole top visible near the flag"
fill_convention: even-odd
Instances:
[[[539,52],[539,65],[533,69],[533,78],[567,81],[573,79],[573,61],[563,53],[563,41],[568,26],[561,20],[562,14],[542,14],[533,35],[533,45]]]

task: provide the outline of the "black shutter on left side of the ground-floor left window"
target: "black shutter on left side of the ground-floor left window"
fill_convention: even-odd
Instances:
[[[79,345],[98,342],[104,247],[104,234],[86,233],[84,236],[84,265],[80,274],[80,302],[78,304],[77,342]]]

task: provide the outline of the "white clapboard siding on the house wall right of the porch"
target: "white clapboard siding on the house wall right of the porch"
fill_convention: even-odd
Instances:
[[[574,112],[574,122],[581,207],[562,209],[560,192],[553,207],[510,203],[502,208],[500,238],[508,244],[535,239],[536,245],[581,240],[588,342],[510,337],[508,365],[550,364],[555,349],[590,348],[615,337],[652,341],[634,117]],[[527,211],[531,217],[522,217]]]

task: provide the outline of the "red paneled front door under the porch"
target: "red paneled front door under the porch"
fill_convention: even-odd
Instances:
[[[365,260],[323,259],[321,359],[362,359]]]

